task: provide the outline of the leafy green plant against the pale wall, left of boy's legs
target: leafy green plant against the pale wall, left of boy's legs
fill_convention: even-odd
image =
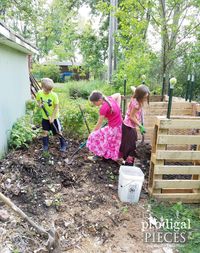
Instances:
[[[33,138],[37,136],[39,130],[32,129],[30,120],[30,115],[26,115],[18,119],[13,125],[8,141],[8,146],[10,149],[28,147]]]

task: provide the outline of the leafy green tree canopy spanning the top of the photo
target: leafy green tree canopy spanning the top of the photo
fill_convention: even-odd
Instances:
[[[98,17],[80,18],[79,8],[87,5]],[[108,0],[2,0],[0,17],[6,24],[40,50],[39,59],[76,61],[100,77],[108,58]],[[130,84],[139,84],[141,76],[154,90],[160,90],[165,76],[178,78],[179,95],[185,92],[188,74],[194,74],[195,89],[200,91],[199,37],[200,2],[198,0],[119,0],[113,15],[118,20],[115,36],[117,70],[113,80],[120,85],[124,76]],[[93,19],[94,20],[94,19]],[[155,43],[156,42],[156,43]]]

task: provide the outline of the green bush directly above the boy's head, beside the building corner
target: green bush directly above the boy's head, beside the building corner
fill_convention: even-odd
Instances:
[[[60,67],[54,64],[33,64],[32,73],[37,79],[48,77],[54,82],[60,80]]]

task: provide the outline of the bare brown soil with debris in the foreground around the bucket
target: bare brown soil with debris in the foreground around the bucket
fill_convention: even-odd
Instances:
[[[147,180],[137,204],[122,203],[117,195],[119,164],[89,161],[91,154],[83,148],[69,165],[66,158],[80,143],[69,139],[69,149],[62,154],[54,142],[50,140],[49,153],[42,152],[41,140],[9,152],[0,161],[0,191],[46,230],[54,223],[57,252],[167,252],[163,245],[143,242],[142,222],[149,215]],[[149,144],[140,143],[136,165],[145,179],[150,152]],[[8,217],[0,215],[1,253],[48,252],[45,238],[0,202],[2,210]]]

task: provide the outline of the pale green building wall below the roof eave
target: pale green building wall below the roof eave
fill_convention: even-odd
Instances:
[[[7,149],[13,123],[30,98],[28,56],[0,44],[0,155]]]

